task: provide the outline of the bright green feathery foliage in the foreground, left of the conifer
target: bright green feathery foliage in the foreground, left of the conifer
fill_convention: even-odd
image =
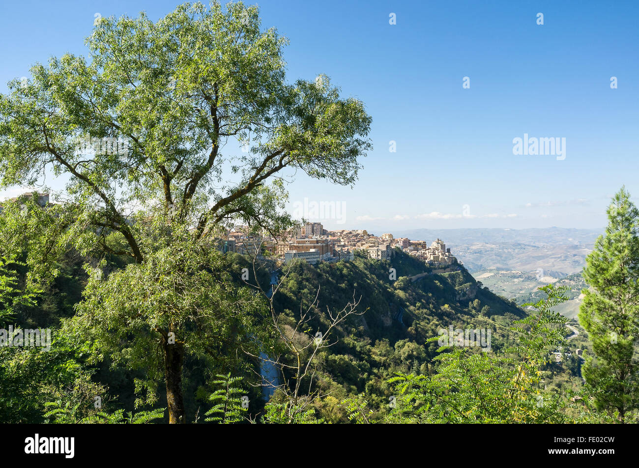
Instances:
[[[552,308],[567,300],[566,287],[544,286],[532,305],[537,312],[514,322],[519,343],[504,355],[456,348],[436,356],[435,375],[397,374],[396,409],[387,420],[400,423],[560,423],[573,405],[566,396],[543,393],[541,366],[564,341],[566,318]],[[430,341],[436,340],[432,338]],[[444,351],[444,347],[440,348]],[[512,356],[512,357],[511,357]]]

